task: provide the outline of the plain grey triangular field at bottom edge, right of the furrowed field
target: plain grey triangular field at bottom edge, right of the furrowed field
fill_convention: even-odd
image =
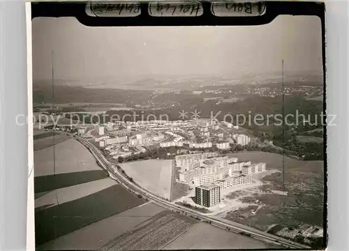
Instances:
[[[204,222],[199,222],[188,229],[184,234],[165,246],[165,250],[217,250],[217,249],[242,249],[268,248],[262,241],[234,234],[230,231],[219,229]]]

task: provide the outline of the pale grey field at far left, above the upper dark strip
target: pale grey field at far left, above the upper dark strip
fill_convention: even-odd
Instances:
[[[44,138],[38,141],[47,139]],[[53,147],[34,152],[35,177],[79,171],[101,171],[101,168],[96,164],[96,159],[94,159],[91,153],[74,139],[69,139],[55,145],[54,152]]]

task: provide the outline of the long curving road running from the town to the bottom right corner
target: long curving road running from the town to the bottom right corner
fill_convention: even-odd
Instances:
[[[272,234],[267,234],[264,231],[260,231],[258,229],[253,229],[251,227],[244,226],[242,224],[236,223],[236,222],[223,222],[221,220],[216,220],[214,218],[202,215],[200,212],[191,210],[190,208],[186,208],[184,206],[177,205],[175,203],[172,203],[170,201],[167,201],[165,199],[162,199],[159,196],[156,196],[155,194],[151,194],[149,191],[143,189],[142,187],[136,185],[134,182],[131,182],[126,178],[124,175],[119,173],[118,169],[110,164],[110,162],[105,159],[104,155],[96,146],[89,141],[86,141],[84,138],[80,136],[73,135],[73,137],[82,143],[94,157],[96,160],[101,164],[101,166],[109,173],[110,178],[117,180],[119,184],[123,185],[126,187],[126,189],[131,190],[131,192],[134,192],[135,194],[140,194],[144,198],[149,199],[149,201],[154,201],[154,203],[158,204],[159,206],[162,206],[164,208],[168,208],[174,212],[181,213],[181,214],[186,214],[188,216],[195,217],[198,220],[206,221],[206,222],[211,222],[212,225],[216,227],[221,227],[223,229],[229,229],[230,231],[239,233],[239,234],[244,234],[247,236],[251,236],[253,238],[269,242],[269,243],[274,243],[276,245],[281,245],[284,248],[294,248],[294,249],[311,249],[310,247],[306,245],[302,245],[299,243],[294,243],[292,241],[289,241],[287,239],[281,238],[279,236],[274,236]]]

